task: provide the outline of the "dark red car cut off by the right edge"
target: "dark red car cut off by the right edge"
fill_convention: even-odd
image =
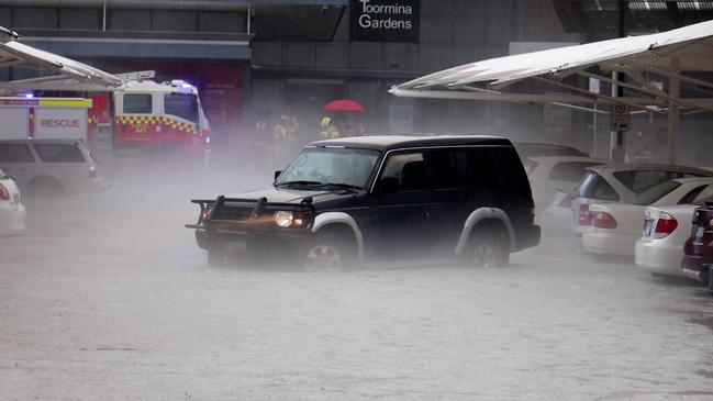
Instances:
[[[713,291],[713,202],[695,208],[691,233],[683,243],[681,272],[688,278],[708,285]]]

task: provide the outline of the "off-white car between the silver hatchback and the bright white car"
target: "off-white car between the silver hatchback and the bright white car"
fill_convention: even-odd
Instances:
[[[630,203],[590,204],[591,223],[582,233],[582,248],[594,254],[633,257],[636,241],[642,237],[646,207],[691,203],[711,183],[713,177],[675,179],[649,188]]]

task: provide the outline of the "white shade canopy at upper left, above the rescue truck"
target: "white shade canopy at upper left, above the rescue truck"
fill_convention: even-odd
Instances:
[[[0,26],[0,67],[32,64],[55,75],[0,81],[2,89],[113,90],[126,83],[121,75],[112,75],[83,63],[44,52],[16,41],[19,35]]]

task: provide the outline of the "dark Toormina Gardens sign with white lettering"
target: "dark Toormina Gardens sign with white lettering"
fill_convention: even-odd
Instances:
[[[419,42],[421,0],[352,0],[352,41]]]

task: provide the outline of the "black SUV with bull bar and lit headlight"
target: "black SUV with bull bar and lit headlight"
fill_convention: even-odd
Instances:
[[[193,199],[210,265],[279,256],[308,270],[453,256],[502,266],[539,243],[512,143],[495,136],[360,136],[308,145],[268,189]]]

